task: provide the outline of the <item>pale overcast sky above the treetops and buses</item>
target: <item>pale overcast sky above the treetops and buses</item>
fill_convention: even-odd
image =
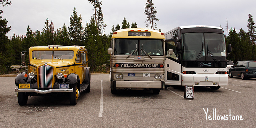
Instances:
[[[70,16],[76,7],[77,15],[81,14],[83,26],[90,22],[94,11],[88,0],[9,0],[11,6],[0,7],[3,18],[8,20],[11,30],[10,38],[15,35],[26,35],[29,27],[32,31],[42,31],[48,18],[53,22],[55,31],[65,23],[69,26]],[[110,34],[111,27],[122,26],[124,17],[127,22],[136,22],[138,28],[146,28],[145,3],[147,0],[101,0],[105,33]],[[167,32],[172,28],[186,25],[210,25],[224,29],[242,28],[247,32],[248,14],[256,20],[255,0],[153,0],[158,13],[157,29]]]

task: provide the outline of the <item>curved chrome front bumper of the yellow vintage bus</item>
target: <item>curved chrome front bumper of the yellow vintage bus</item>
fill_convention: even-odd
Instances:
[[[49,90],[38,90],[33,88],[15,88],[15,92],[36,92],[40,94],[47,94],[51,92],[73,92],[73,88],[67,88],[67,89],[49,89]]]

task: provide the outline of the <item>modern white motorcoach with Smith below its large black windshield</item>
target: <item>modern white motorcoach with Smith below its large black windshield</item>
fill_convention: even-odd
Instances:
[[[164,34],[165,49],[173,54],[165,61],[166,85],[228,85],[227,52],[224,31],[213,26],[181,26]],[[167,53],[166,53],[167,54]],[[168,54],[167,54],[168,55]]]

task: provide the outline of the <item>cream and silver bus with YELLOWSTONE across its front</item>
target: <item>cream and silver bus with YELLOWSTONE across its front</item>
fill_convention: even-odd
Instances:
[[[157,30],[126,28],[114,32],[108,48],[111,93],[148,89],[159,94],[165,88],[164,45],[164,33]]]

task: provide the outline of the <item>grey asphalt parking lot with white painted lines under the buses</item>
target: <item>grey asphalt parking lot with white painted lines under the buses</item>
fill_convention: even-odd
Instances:
[[[195,99],[172,86],[152,91],[119,91],[113,95],[109,75],[91,76],[91,92],[76,106],[67,96],[32,96],[19,106],[15,77],[0,77],[1,127],[255,127],[256,79],[228,78],[219,90],[195,87]],[[208,109],[208,111],[207,111]],[[225,115],[225,116],[224,116]],[[223,118],[224,117],[224,118]]]

